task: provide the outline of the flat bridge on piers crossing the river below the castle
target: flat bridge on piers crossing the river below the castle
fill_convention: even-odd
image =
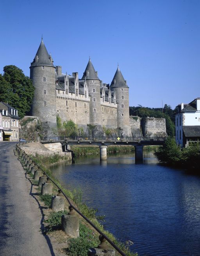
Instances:
[[[129,145],[135,147],[135,159],[136,163],[143,163],[143,146],[147,145],[163,145],[164,140],[43,140],[40,141],[43,144],[51,144],[48,147],[53,146],[55,143],[62,145],[62,151],[68,151],[68,145],[98,145],[100,148],[100,160],[107,159],[107,146],[109,145]],[[54,145],[55,146],[55,145]]]

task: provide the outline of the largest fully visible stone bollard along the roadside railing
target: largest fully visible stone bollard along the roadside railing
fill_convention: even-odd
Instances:
[[[75,211],[69,206],[70,212],[67,215],[62,215],[61,226],[62,230],[72,238],[79,237],[79,216],[75,215]]]

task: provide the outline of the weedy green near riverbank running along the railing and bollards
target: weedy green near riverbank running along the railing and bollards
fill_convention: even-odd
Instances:
[[[98,219],[102,219],[102,216],[96,217],[96,212],[97,209],[93,209],[93,208],[88,208],[86,206],[86,204],[81,202],[81,191],[80,190],[66,190],[64,189],[60,182],[55,179],[54,175],[52,175],[52,172],[49,168],[49,166],[47,166],[47,163],[52,163],[52,161],[54,161],[54,163],[59,162],[59,156],[57,156],[54,159],[48,159],[48,157],[43,157],[43,156],[31,156],[32,160],[34,160],[35,163],[37,163],[37,165],[41,166],[41,168],[43,170],[45,170],[45,172],[51,177],[51,179],[57,184],[59,185],[62,190],[64,191],[64,193],[66,193],[66,195],[74,202],[75,205],[77,205],[77,207],[79,208],[80,212],[85,215],[91,222],[93,222],[93,224],[95,224],[96,227],[98,227],[98,229],[100,229],[102,232],[105,233],[105,235],[107,235],[118,247],[120,247],[120,249],[127,255],[127,256],[137,256],[136,253],[132,253],[129,251],[129,246],[127,244],[123,244],[121,242],[119,242],[111,233],[109,233],[108,231],[104,230],[104,227],[98,222]],[[55,192],[54,192],[55,193]],[[51,196],[50,196],[51,197]],[[49,201],[50,198],[45,198],[46,201],[46,205],[49,206]],[[66,209],[68,210],[68,209]],[[59,226],[60,224],[60,219],[61,219],[61,215],[62,213],[59,214],[49,214],[49,216],[47,218],[45,218],[45,222],[46,223],[51,223],[50,229],[48,230],[48,232],[52,232],[52,230],[54,230],[55,226]],[[57,220],[55,222],[55,219]],[[61,239],[61,237],[58,237],[58,239]],[[81,224],[80,224],[80,237],[79,238],[69,238],[67,240],[68,243],[68,248],[66,249],[67,255],[70,256],[86,256],[87,255],[87,250],[90,247],[94,247],[98,245],[98,233],[96,233],[96,231],[94,231],[93,228],[91,228],[90,226],[88,226],[88,224],[86,224],[86,222],[83,221],[83,219],[81,218]]]

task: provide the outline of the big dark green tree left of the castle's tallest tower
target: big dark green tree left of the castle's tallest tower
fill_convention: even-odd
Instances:
[[[0,101],[18,109],[23,118],[30,111],[33,96],[34,86],[29,77],[14,65],[5,66],[3,76],[0,75]]]

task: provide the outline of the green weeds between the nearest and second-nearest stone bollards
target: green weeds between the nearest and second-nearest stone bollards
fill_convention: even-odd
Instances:
[[[88,227],[80,223],[79,238],[71,238],[70,245],[66,250],[70,256],[87,256],[87,251],[91,247],[99,244],[98,236]]]

